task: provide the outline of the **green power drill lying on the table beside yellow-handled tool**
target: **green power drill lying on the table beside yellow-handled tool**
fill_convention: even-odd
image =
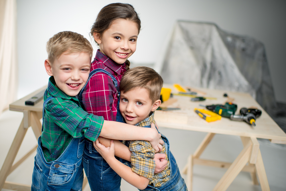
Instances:
[[[200,105],[206,107],[206,109],[221,115],[222,117],[230,118],[231,115],[234,115],[237,109],[237,105],[232,102],[226,102],[224,105]]]

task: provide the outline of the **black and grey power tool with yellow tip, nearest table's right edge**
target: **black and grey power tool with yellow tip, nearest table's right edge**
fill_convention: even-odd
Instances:
[[[234,121],[246,121],[246,123],[255,126],[255,120],[261,115],[261,111],[259,109],[241,108],[240,114],[230,115],[230,119]]]

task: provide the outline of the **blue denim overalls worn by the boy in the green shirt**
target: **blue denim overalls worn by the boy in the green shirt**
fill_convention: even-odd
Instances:
[[[45,94],[47,93],[47,90]],[[44,101],[43,121],[45,105],[50,99]],[[44,123],[43,123],[44,124]],[[42,125],[43,131],[43,125]],[[35,156],[34,169],[32,175],[32,191],[39,190],[82,190],[83,166],[82,154],[85,145],[85,138],[72,138],[68,147],[52,162],[46,162],[42,150],[41,137],[38,139],[37,154]]]

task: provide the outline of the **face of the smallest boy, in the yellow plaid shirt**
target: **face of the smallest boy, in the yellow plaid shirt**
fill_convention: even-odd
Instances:
[[[126,123],[135,125],[149,117],[161,104],[160,100],[152,103],[149,92],[145,88],[134,88],[128,92],[121,92],[119,110]]]

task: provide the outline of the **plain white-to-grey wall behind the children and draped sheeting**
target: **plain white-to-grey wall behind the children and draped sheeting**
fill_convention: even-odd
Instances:
[[[111,0],[18,0],[18,98],[44,86],[46,42],[54,34],[70,30],[90,40],[90,28],[102,7]],[[266,54],[277,101],[286,103],[286,2],[212,0],[133,0],[140,14],[142,30],[137,51],[129,58],[134,63],[155,63],[176,20],[207,21],[221,29],[260,40]],[[94,46],[94,49],[96,47]]]

